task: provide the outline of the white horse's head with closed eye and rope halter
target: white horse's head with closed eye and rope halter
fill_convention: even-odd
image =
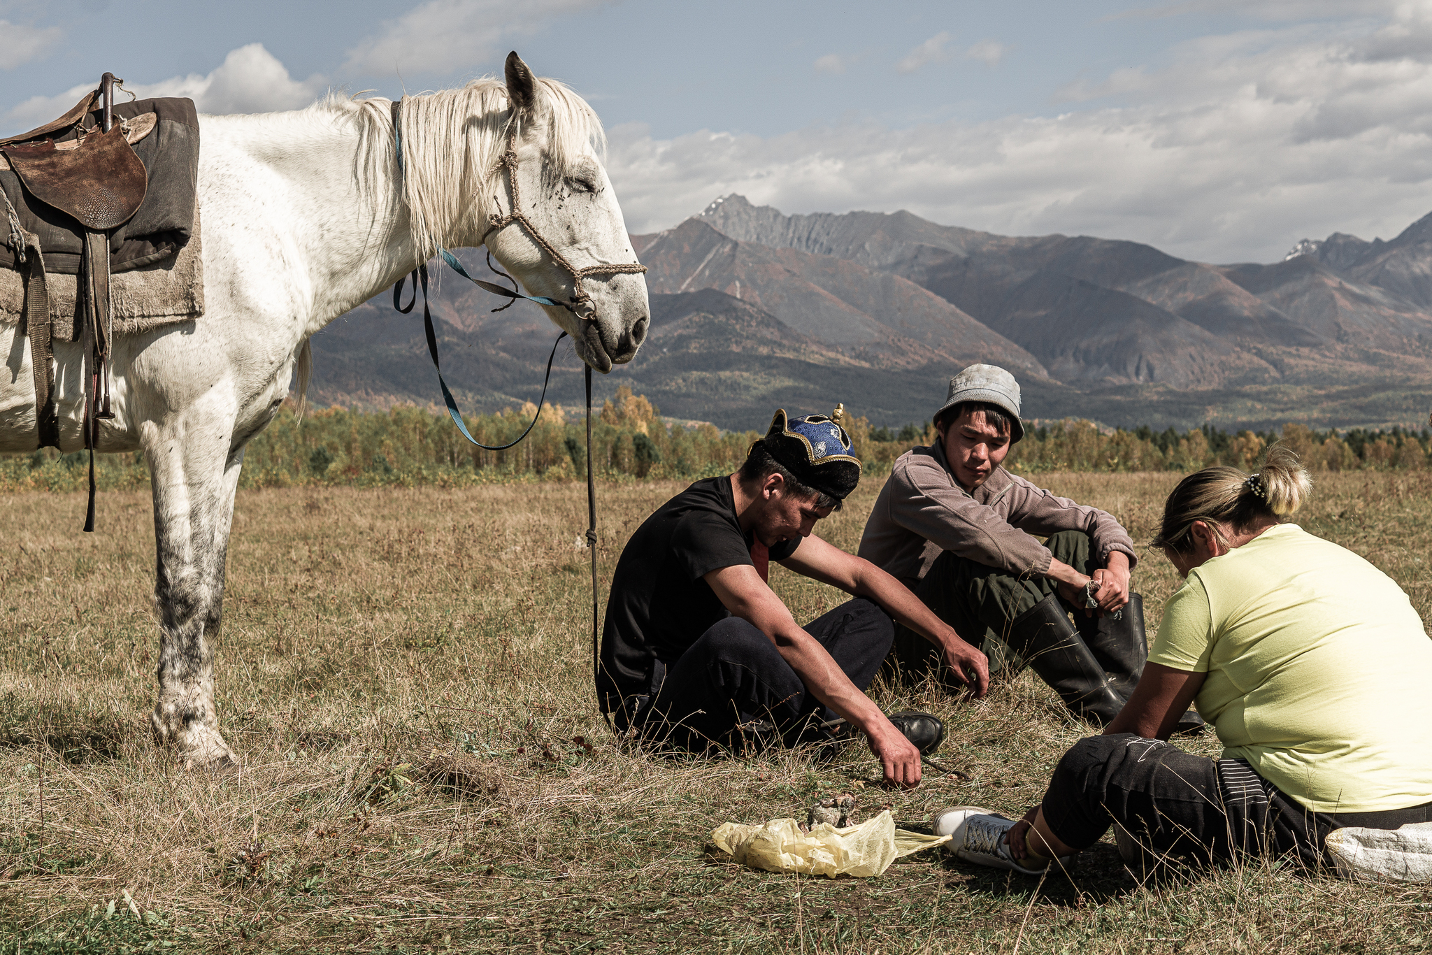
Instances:
[[[507,57],[507,135],[516,153],[488,179],[493,218],[481,228],[493,256],[533,295],[597,371],[632,361],[646,339],[650,305],[607,170],[601,125],[560,83],[537,80]]]

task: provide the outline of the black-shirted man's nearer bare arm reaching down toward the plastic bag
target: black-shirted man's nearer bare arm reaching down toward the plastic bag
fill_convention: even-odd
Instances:
[[[722,567],[706,574],[705,580],[726,610],[770,637],[780,659],[790,664],[806,690],[865,733],[886,780],[902,786],[919,782],[919,750],[851,683],[825,647],[796,626],[790,611],[755,567]]]

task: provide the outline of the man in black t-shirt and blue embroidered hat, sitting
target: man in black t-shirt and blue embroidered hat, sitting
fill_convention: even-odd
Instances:
[[[865,696],[895,621],[938,644],[984,694],[982,653],[898,580],[812,534],[861,478],[841,414],[778,411],[739,472],[692,484],[627,541],[597,672],[601,712],[619,732],[705,752],[853,727],[886,780],[914,785],[944,727],[925,713],[885,716]],[[766,583],[770,561],[853,600],[800,627]]]

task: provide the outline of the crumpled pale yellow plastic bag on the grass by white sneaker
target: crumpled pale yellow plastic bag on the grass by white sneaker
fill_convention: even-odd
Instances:
[[[836,829],[828,822],[800,832],[795,819],[763,825],[727,822],[712,832],[712,842],[743,865],[766,872],[872,876],[891,862],[921,849],[949,842],[949,836],[924,836],[895,828],[889,809],[858,826]]]

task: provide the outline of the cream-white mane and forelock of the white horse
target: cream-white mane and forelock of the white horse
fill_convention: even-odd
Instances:
[[[547,163],[557,175],[573,165],[590,145],[606,149],[601,120],[586,100],[566,84],[537,79],[537,122],[548,125]],[[381,182],[394,165],[391,100],[348,99],[329,94],[314,109],[349,115],[362,140],[358,150],[359,176]],[[497,159],[507,146],[514,122],[507,86],[491,77],[473,80],[455,90],[440,90],[402,100],[404,200],[412,225],[412,241],[421,261],[437,255],[448,236],[475,228],[493,208]],[[465,157],[455,160],[455,157]],[[368,189],[365,189],[367,192]],[[369,195],[372,195],[369,192]],[[478,229],[481,232],[481,229]]]

